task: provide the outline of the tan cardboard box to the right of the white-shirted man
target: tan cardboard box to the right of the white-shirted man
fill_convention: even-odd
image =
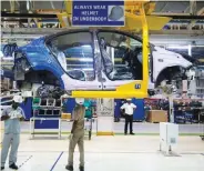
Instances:
[[[147,122],[167,122],[167,111],[150,110],[147,113]]]

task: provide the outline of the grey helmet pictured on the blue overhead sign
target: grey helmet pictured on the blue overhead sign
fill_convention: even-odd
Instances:
[[[119,20],[124,16],[124,10],[121,6],[115,6],[111,9],[111,13],[109,16],[110,20]]]

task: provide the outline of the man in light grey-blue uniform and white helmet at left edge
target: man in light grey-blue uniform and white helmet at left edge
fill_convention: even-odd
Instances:
[[[22,101],[23,100],[21,95],[14,95],[12,105],[6,108],[1,114],[1,121],[4,121],[4,137],[1,151],[1,170],[4,169],[9,148],[11,148],[9,154],[9,168],[18,170],[16,162],[20,140],[20,120],[26,118],[23,110],[19,107]]]

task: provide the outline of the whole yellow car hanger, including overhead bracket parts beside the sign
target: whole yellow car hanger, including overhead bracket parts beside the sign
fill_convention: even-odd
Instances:
[[[145,98],[147,97],[149,86],[149,29],[161,29],[169,18],[146,17],[154,8],[155,3],[137,0],[125,0],[125,27],[120,30],[131,30],[133,32],[142,30],[143,38],[143,80],[133,80],[128,84],[122,84],[115,91],[72,91],[73,98]],[[72,2],[65,1],[67,18],[71,20]],[[152,28],[149,27],[149,23]],[[140,89],[135,89],[135,86]]]

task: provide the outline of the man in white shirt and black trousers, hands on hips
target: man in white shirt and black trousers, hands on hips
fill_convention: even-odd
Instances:
[[[131,99],[126,99],[126,102],[121,107],[121,110],[124,110],[125,125],[124,125],[124,134],[128,133],[128,125],[130,123],[130,134],[133,133],[132,123],[133,123],[133,112],[136,109],[136,105],[131,103]]]

